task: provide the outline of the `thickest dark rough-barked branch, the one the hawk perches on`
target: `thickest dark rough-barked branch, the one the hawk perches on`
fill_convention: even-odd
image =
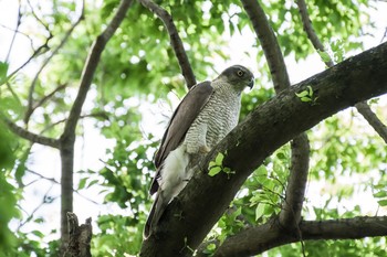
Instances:
[[[140,255],[190,256],[190,248],[202,242],[248,175],[266,157],[321,120],[387,92],[386,56],[387,43],[292,86],[255,108],[200,162],[195,176],[166,210],[156,233],[144,242]],[[316,97],[314,103],[303,103],[295,95],[308,86]],[[207,175],[209,161],[226,151],[223,165],[236,173],[230,178],[222,173]]]

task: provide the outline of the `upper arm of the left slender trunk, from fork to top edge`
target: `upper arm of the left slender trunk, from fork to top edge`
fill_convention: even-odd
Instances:
[[[97,36],[94,42],[91,53],[87,57],[85,67],[82,73],[80,90],[76,95],[75,101],[71,108],[69,119],[64,127],[64,131],[62,138],[74,137],[76,124],[80,119],[82,106],[86,99],[86,95],[88,88],[92,84],[94,73],[98,66],[101,54],[104,51],[107,42],[112,39],[115,31],[118,29],[119,24],[124,20],[127,10],[132,4],[132,0],[122,0],[119,7],[113,17],[111,23],[106,26],[106,29]]]

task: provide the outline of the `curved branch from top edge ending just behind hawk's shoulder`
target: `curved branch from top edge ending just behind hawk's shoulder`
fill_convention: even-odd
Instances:
[[[157,6],[151,0],[139,0],[139,2],[144,7],[148,8],[153,13],[155,13],[164,22],[169,34],[170,45],[172,46],[176,58],[179,62],[182,76],[186,79],[187,87],[191,88],[196,84],[195,74],[189,63],[187,53],[184,49],[179,33],[177,32],[172,17],[165,9]]]

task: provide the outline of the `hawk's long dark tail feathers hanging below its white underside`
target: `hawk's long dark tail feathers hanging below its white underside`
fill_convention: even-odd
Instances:
[[[148,215],[148,218],[145,223],[144,227],[144,239],[148,238],[156,225],[158,224],[160,217],[163,216],[163,213],[165,208],[167,207],[169,201],[165,201],[165,197],[163,195],[163,191],[159,191],[156,195],[155,202],[151,205],[150,213]]]

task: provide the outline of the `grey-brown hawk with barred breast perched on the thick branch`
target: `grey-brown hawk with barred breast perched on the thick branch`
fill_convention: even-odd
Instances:
[[[248,68],[233,65],[212,82],[195,85],[176,108],[154,160],[157,172],[149,193],[157,195],[145,225],[145,238],[191,178],[192,169],[187,169],[190,159],[209,152],[237,126],[241,93],[252,88],[253,79]]]

